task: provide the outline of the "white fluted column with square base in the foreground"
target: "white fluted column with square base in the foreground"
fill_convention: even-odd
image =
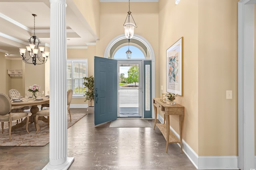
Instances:
[[[66,170],[67,64],[66,0],[50,0],[50,160],[43,170]]]

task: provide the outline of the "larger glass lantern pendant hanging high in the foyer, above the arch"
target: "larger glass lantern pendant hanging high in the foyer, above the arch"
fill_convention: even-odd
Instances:
[[[129,11],[127,13],[128,14],[124,21],[124,34],[127,39],[131,39],[134,35],[134,28],[137,28],[137,25],[132,17],[132,12],[130,12],[130,0],[129,0]]]

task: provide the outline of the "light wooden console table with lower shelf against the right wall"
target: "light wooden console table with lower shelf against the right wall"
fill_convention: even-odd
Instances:
[[[164,138],[166,140],[166,153],[168,151],[169,143],[180,143],[180,149],[182,152],[182,127],[184,122],[184,106],[181,106],[179,104],[169,105],[169,104],[163,103],[160,100],[160,98],[153,98],[153,105],[154,105],[154,111],[155,111],[154,129],[157,126],[162,132],[162,134],[164,135]],[[160,109],[161,111],[164,111],[164,123],[166,120],[166,124],[156,123],[157,108]],[[176,135],[174,135],[174,133],[170,131],[170,115],[180,115],[180,139],[178,139],[178,137],[176,137]]]

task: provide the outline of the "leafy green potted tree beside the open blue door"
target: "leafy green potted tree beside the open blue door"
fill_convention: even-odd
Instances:
[[[92,106],[92,100],[94,100],[94,77],[84,77],[84,86],[86,88],[85,92],[85,100],[86,102],[88,100],[88,105],[90,103],[90,106],[87,107],[88,113],[94,113],[94,106]]]

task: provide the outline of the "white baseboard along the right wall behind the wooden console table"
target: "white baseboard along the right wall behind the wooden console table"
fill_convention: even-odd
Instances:
[[[158,120],[164,123],[164,118],[159,114]],[[180,138],[180,135],[172,127],[170,127],[170,130]],[[177,144],[180,146],[179,143]],[[239,170],[238,156],[198,156],[183,139],[182,146],[183,152],[198,170]]]

